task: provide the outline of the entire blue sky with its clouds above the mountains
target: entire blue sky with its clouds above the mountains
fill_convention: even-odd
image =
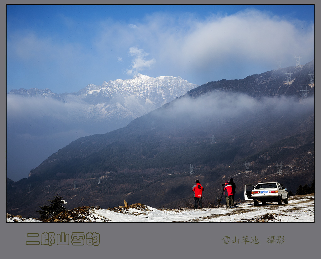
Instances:
[[[141,73],[201,85],[314,59],[314,5],[7,5],[6,83],[76,92]]]

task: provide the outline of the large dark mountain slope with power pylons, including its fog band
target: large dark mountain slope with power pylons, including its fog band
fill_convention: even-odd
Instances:
[[[294,194],[315,174],[313,73],[311,61],[208,82],[126,127],[81,137],[27,179],[7,179],[7,212],[35,217],[56,192],[69,208],[108,208],[124,199],[156,208],[192,206],[195,179],[208,207],[230,178],[237,198],[244,184],[257,181],[280,182]]]

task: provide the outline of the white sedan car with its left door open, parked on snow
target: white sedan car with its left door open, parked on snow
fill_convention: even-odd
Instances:
[[[265,205],[266,202],[278,202],[278,204],[289,204],[289,194],[278,182],[259,182],[256,186],[245,184],[244,199],[253,200],[257,206],[259,202]]]

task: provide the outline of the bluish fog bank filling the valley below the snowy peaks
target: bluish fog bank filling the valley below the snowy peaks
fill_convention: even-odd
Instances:
[[[126,126],[132,118],[101,119],[88,104],[50,98],[7,95],[7,177],[13,181],[28,177],[54,152],[70,142],[93,134],[105,134]]]

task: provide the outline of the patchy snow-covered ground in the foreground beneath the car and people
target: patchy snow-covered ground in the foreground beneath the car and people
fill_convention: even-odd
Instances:
[[[69,214],[64,220],[63,217],[56,218],[57,222],[315,222],[314,195],[290,197],[288,205],[266,203],[254,206],[253,202],[242,202],[230,209],[226,209],[225,205],[218,208],[162,210],[143,204],[136,207],[80,207],[81,217]],[[41,221],[13,217],[8,218],[7,222]]]

